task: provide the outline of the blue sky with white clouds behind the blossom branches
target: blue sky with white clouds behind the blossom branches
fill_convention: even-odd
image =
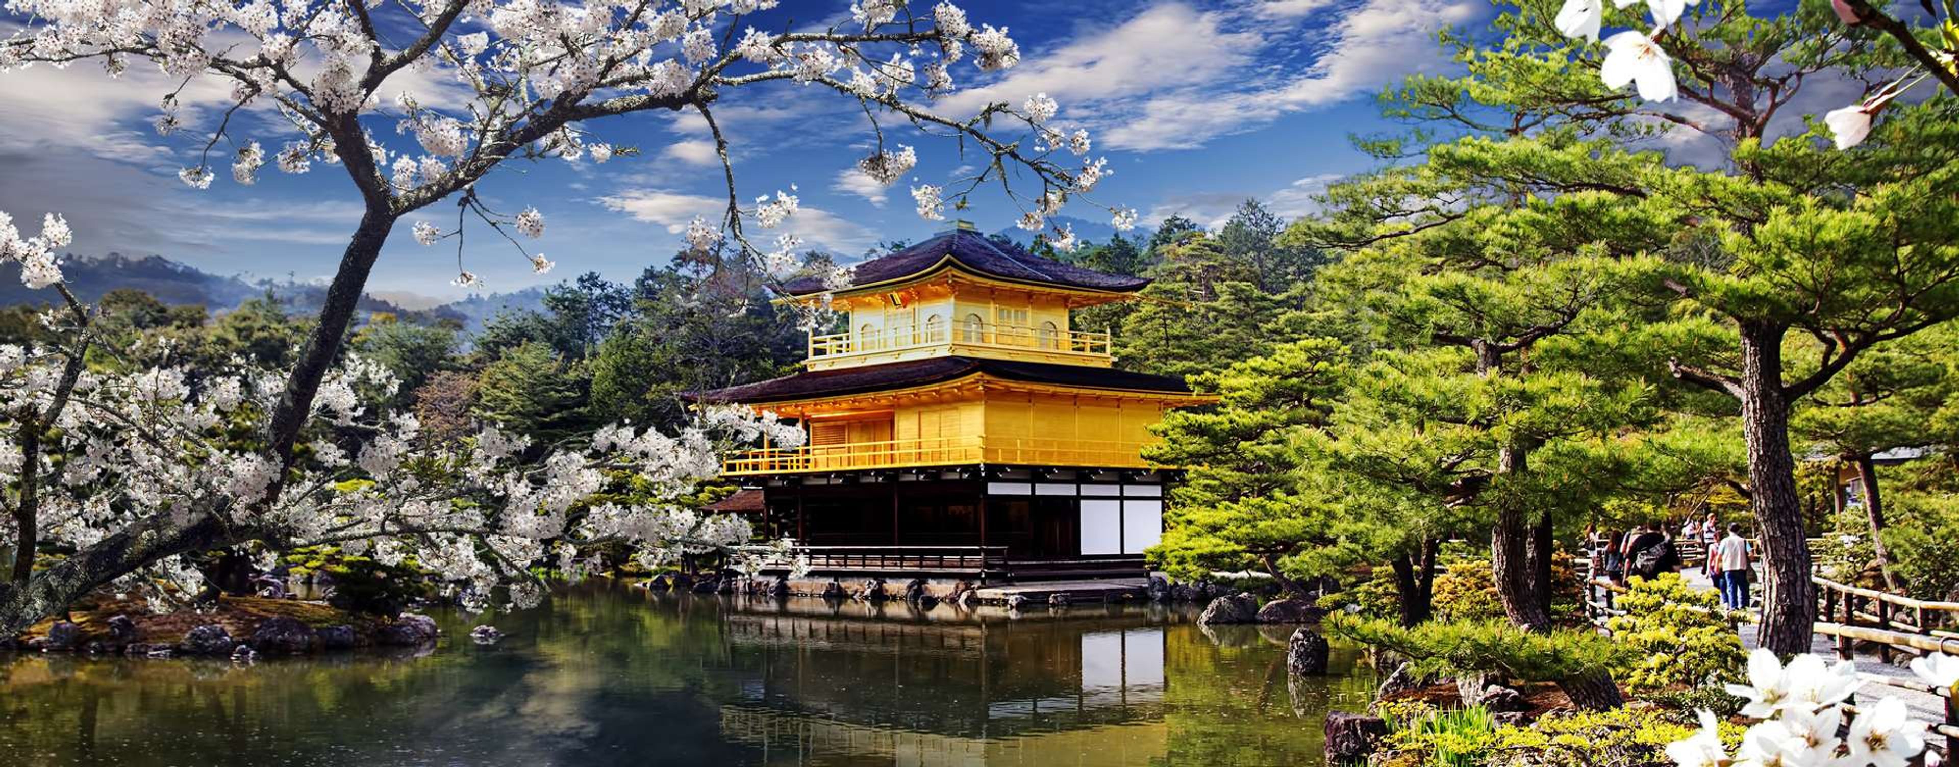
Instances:
[[[927,0],[913,0],[929,8]],[[797,4],[799,18],[835,18],[848,6]],[[813,10],[809,10],[815,6]],[[1115,176],[1095,198],[1134,207],[1144,223],[1183,213],[1218,223],[1246,198],[1285,215],[1309,209],[1330,178],[1367,166],[1346,137],[1383,127],[1373,96],[1414,70],[1446,67],[1434,45],[1442,23],[1477,23],[1483,0],[1236,0],[1236,2],[968,2],[974,22],[1005,25],[1023,61],[999,76],[956,68],[962,92],[934,106],[970,115],[989,100],[1019,104],[1048,92],[1062,125],[1087,127],[1095,155]],[[1060,14],[1058,8],[1068,8]],[[400,88],[413,88],[407,80]],[[439,88],[437,84],[427,84]],[[223,172],[204,192],[176,180],[194,164],[196,131],[159,137],[149,129],[167,84],[131,72],[108,80],[96,65],[0,74],[0,209],[20,219],[65,213],[78,254],[157,252],[219,274],[313,280],[329,274],[358,219],[351,182],[337,166],[284,176],[270,166],[257,186]],[[229,86],[192,86],[186,117],[210,127],[212,108]],[[382,96],[392,98],[394,80]],[[204,108],[200,108],[200,104]],[[880,239],[919,239],[942,225],[915,215],[905,190],[942,182],[964,160],[944,139],[887,133],[919,149],[911,178],[876,188],[848,168],[870,137],[854,102],[793,84],[731,90],[717,108],[735,145],[744,200],[795,184],[803,211],[791,223],[809,245],[856,256]],[[290,135],[263,115],[241,135],[270,149]],[[507,247],[472,229],[466,266],[494,292],[556,282],[586,270],[629,280],[664,262],[678,229],[711,213],[723,192],[719,164],[697,117],[629,115],[586,125],[601,139],[637,147],[639,157],[607,164],[562,160],[507,162],[482,186],[502,209],[535,205],[547,233],[535,243],[558,270],[531,276]],[[259,133],[255,133],[259,131]],[[396,137],[388,137],[396,141]],[[411,139],[400,139],[411,145]],[[1001,229],[1019,209],[976,196],[960,217]],[[1075,205],[1068,215],[1105,219]],[[451,286],[454,248],[423,248],[407,235],[415,219],[454,225],[454,207],[437,203],[409,215],[376,266],[370,290],[388,295],[458,297]]]

